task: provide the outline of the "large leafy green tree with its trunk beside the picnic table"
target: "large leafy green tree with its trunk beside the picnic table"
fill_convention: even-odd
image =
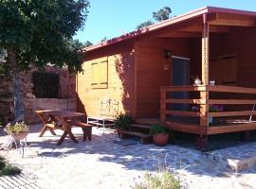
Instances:
[[[86,21],[87,0],[1,0],[0,46],[7,50],[14,90],[14,122],[24,120],[19,73],[50,63],[82,70],[82,43],[72,36]],[[2,65],[3,66],[3,65]]]

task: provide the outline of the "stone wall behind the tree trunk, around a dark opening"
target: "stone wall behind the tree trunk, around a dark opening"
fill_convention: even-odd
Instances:
[[[29,119],[31,119],[32,122],[37,120],[33,111],[39,110],[44,106],[44,103],[46,103],[44,109],[58,107],[58,103],[62,104],[60,106],[66,107],[66,105],[63,105],[65,101],[67,102],[66,98],[76,98],[76,77],[70,76],[67,69],[46,66],[46,72],[53,72],[59,75],[59,98],[63,99],[63,102],[58,101],[58,99],[48,99],[44,101],[40,98],[36,100],[37,98],[33,94],[32,73],[37,70],[37,68],[32,68],[29,72],[20,74],[21,87],[25,98],[25,119],[29,124],[31,122]],[[11,80],[5,75],[0,75],[0,116],[4,118],[5,123],[13,120],[13,89]]]

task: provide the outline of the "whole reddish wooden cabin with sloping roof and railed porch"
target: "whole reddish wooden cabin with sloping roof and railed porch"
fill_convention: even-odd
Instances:
[[[256,129],[256,12],[196,9],[84,51],[80,112],[100,116],[110,99],[137,122],[201,137]]]

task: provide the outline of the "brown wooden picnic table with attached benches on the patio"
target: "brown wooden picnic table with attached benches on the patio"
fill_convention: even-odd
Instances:
[[[76,137],[72,133],[72,127],[78,126],[82,128],[83,141],[86,140],[86,137],[91,140],[92,126],[81,121],[81,119],[86,119],[85,113],[62,110],[44,110],[36,111],[36,113],[45,125],[40,133],[40,137],[45,134],[46,130],[49,130],[52,134],[56,135],[53,129],[63,129],[64,133],[58,141],[57,145],[61,145],[67,135],[74,143],[78,143]]]

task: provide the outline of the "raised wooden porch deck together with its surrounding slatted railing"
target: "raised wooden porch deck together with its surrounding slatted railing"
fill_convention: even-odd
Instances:
[[[194,99],[174,99],[173,93],[189,92]],[[197,94],[193,94],[197,93]],[[239,95],[240,94],[240,95]],[[242,95],[241,95],[242,94]],[[234,86],[167,86],[161,88],[160,121],[170,129],[207,136],[256,129],[250,118],[256,114],[256,89]],[[235,97],[235,99],[230,99]],[[221,99],[220,99],[221,98]],[[177,111],[174,104],[199,106],[199,112]],[[210,105],[224,106],[222,112],[210,112]],[[170,118],[170,117],[178,118]],[[210,117],[213,123],[210,123]]]

